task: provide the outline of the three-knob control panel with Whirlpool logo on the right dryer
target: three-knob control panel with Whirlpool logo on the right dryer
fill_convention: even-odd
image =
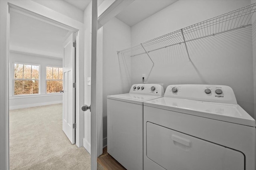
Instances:
[[[164,97],[237,104],[234,91],[226,85],[169,85]]]

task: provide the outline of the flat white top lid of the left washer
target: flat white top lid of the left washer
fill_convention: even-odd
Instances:
[[[144,101],[157,99],[159,97],[162,97],[162,96],[152,96],[152,95],[141,95],[141,94],[126,93],[126,94],[120,94],[120,95],[111,95],[111,96],[108,96],[108,99],[124,101],[124,102],[134,103],[134,104],[138,104],[138,105],[143,105]]]

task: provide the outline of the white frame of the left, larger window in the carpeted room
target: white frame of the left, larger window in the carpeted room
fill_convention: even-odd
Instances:
[[[15,68],[15,64],[23,64],[23,65],[31,65],[31,68],[32,68],[32,65],[35,65],[35,66],[38,66],[39,67],[39,69],[38,69],[38,79],[15,79],[14,78],[14,68]],[[40,86],[40,79],[41,79],[41,77],[40,77],[40,67],[41,67],[41,65],[40,64],[34,64],[34,63],[24,63],[24,62],[17,62],[17,61],[15,61],[15,62],[13,62],[12,63],[12,96],[13,97],[16,97],[16,96],[28,96],[28,95],[40,95],[40,88],[41,88],[41,86]],[[24,70],[23,70],[23,72],[24,72]],[[36,94],[20,94],[20,95],[15,95],[14,94],[14,82],[15,82],[15,80],[35,80],[35,81],[38,81],[38,93],[36,93]]]

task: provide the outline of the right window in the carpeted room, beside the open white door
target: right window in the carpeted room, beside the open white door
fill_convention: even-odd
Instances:
[[[62,68],[46,67],[46,93],[57,93],[62,90],[62,75]]]

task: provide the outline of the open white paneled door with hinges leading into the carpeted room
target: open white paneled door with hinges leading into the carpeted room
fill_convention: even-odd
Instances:
[[[64,42],[63,58],[63,115],[62,130],[72,144],[75,143],[75,48],[73,42],[75,33],[72,33]],[[74,127],[73,127],[74,125]]]

